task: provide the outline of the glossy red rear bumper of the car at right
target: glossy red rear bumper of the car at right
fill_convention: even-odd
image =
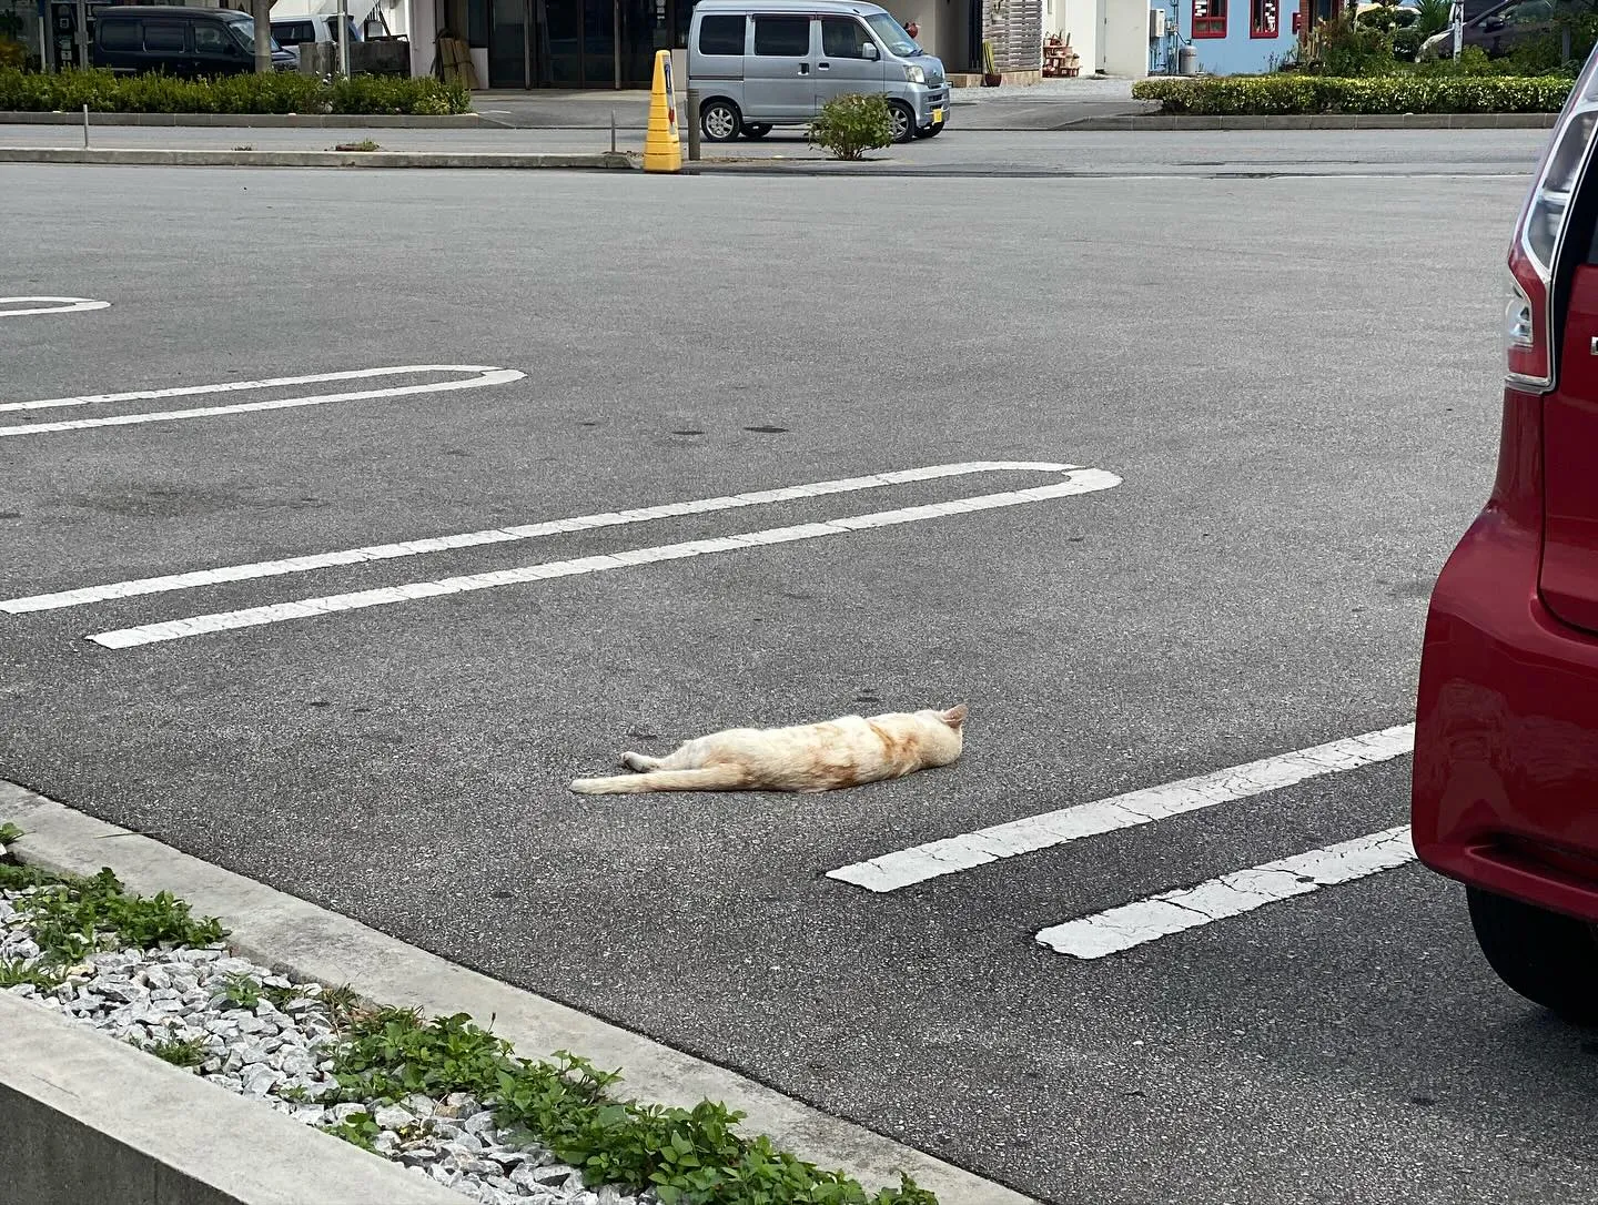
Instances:
[[[1454,879],[1598,922],[1598,639],[1537,595],[1539,416],[1540,400],[1505,406],[1494,500],[1432,595],[1414,847]]]

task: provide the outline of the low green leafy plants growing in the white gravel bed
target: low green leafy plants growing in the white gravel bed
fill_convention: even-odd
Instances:
[[[8,839],[19,836],[5,829]],[[0,988],[34,984],[51,991],[88,954],[118,946],[211,946],[225,937],[211,917],[195,919],[168,892],[126,892],[110,869],[93,877],[61,876],[0,861],[0,890],[26,917],[40,948],[37,959],[0,962]],[[273,994],[278,992],[278,994]],[[262,997],[288,1002],[294,989],[273,989],[249,975],[230,975],[227,1005],[249,1010]],[[618,1098],[617,1072],[556,1052],[553,1060],[519,1058],[513,1047],[467,1015],[423,1023],[401,1008],[363,1008],[345,988],[320,996],[337,1034],[331,1100],[361,1104],[400,1103],[412,1093],[443,1100],[470,1093],[492,1108],[499,1125],[519,1130],[578,1168],[588,1184],[633,1192],[654,1189],[662,1205],[938,1205],[938,1199],[901,1178],[896,1187],[868,1192],[842,1171],[826,1171],[765,1136],[737,1133],[743,1114],[714,1101],[692,1109]],[[139,1044],[179,1068],[206,1058],[198,1040]],[[427,1122],[419,1122],[425,1127]],[[379,1127],[371,1108],[355,1111],[329,1133],[374,1149]]]

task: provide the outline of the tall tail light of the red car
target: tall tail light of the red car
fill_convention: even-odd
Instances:
[[[1553,387],[1553,265],[1564,238],[1571,195],[1592,155],[1598,131],[1598,54],[1587,59],[1580,78],[1553,128],[1537,165],[1515,243],[1509,251],[1512,292],[1504,312],[1509,380],[1520,388]]]

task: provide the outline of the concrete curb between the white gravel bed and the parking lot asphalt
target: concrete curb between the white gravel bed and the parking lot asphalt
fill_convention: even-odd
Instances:
[[[26,836],[8,847],[22,861],[72,874],[110,866],[134,890],[174,892],[197,913],[222,917],[232,929],[229,941],[240,954],[283,973],[328,984],[348,983],[369,1000],[422,1008],[428,1015],[463,1012],[481,1021],[494,1018],[494,1031],[526,1056],[572,1050],[601,1068],[620,1068],[623,1088],[639,1100],[682,1108],[702,1100],[724,1101],[746,1114],[746,1133],[765,1133],[778,1147],[821,1167],[844,1168],[873,1187],[896,1183],[898,1173],[906,1171],[946,1205],[1034,1205],[1012,1189],[831,1117],[737,1072],[446,962],[345,916],[13,783],[0,781],[0,820],[24,831]]]

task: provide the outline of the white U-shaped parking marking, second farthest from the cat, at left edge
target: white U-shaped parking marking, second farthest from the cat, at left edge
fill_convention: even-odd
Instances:
[[[77,431],[88,427],[131,427],[144,422],[171,422],[174,419],[208,419],[217,414],[244,414],[249,411],[283,411],[297,406],[326,406],[331,401],[363,401],[366,398],[400,398],[412,393],[452,393],[463,388],[483,388],[519,380],[526,372],[513,368],[484,368],[479,364],[400,364],[396,368],[363,368],[348,372],[316,372],[304,377],[272,377],[268,380],[225,380],[217,385],[184,385],[181,388],[136,390],[133,393],[91,393],[80,398],[45,398],[43,401],[6,401],[0,411],[40,411],[67,406],[96,406],[115,401],[150,401],[155,398],[189,398],[203,393],[238,393],[257,388],[310,385],[328,380],[364,380],[369,377],[393,377],[422,372],[468,372],[463,380],[435,380],[425,385],[393,385],[388,388],[355,390],[350,393],[312,393],[299,398],[272,398],[270,401],[243,401],[232,406],[198,406],[185,411],[153,411],[134,414],[109,414],[101,419],[70,419],[66,422],[35,422],[22,427],[0,427],[0,438],[11,435],[48,435],[51,431]]]

